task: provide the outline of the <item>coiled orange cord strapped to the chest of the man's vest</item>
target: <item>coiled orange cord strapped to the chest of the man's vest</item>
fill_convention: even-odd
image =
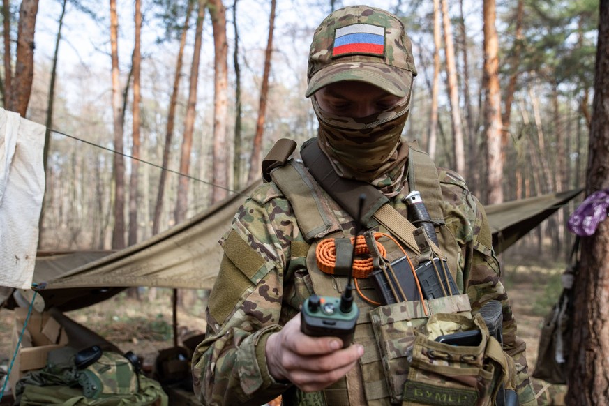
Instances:
[[[382,234],[375,233],[375,240],[378,240]],[[353,244],[353,237],[351,237],[351,243]],[[387,250],[382,246],[379,241],[376,241],[377,248],[382,257],[387,254]],[[370,254],[368,246],[366,245],[366,239],[363,235],[357,236],[357,242],[355,244],[355,255]],[[336,265],[336,246],[334,239],[324,239],[319,241],[317,248],[315,249],[315,257],[317,258],[317,266],[324,273],[334,275],[334,266]],[[374,270],[373,258],[368,255],[366,258],[357,258],[353,262],[353,277],[354,278],[366,278],[368,273]]]

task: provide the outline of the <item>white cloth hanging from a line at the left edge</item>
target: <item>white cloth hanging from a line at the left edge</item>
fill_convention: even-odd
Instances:
[[[29,289],[45,193],[45,126],[0,109],[0,286]]]

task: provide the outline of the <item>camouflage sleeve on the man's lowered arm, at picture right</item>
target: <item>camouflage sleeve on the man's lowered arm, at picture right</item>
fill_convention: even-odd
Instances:
[[[463,267],[464,286],[476,310],[490,300],[499,300],[503,308],[504,351],[516,364],[516,392],[521,406],[536,405],[533,386],[529,378],[526,345],[517,336],[516,319],[511,310],[506,290],[499,280],[501,271],[493,251],[492,233],[482,204],[469,193],[465,181],[455,172],[446,171],[442,180],[442,192],[451,204],[453,216],[448,216],[447,226],[456,236],[462,248],[460,265]]]

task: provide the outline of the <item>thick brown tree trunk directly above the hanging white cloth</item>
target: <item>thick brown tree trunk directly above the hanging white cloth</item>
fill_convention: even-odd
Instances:
[[[10,85],[8,109],[25,117],[31,84],[33,80],[34,30],[38,0],[22,0],[19,9],[19,28],[17,29],[17,61],[15,80]]]

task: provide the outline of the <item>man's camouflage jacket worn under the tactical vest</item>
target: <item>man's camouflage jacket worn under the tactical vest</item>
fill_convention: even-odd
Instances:
[[[456,283],[465,287],[472,310],[493,299],[502,302],[504,349],[516,363],[520,405],[536,405],[525,343],[516,336],[499,263],[490,244],[478,238],[483,227],[488,234],[486,214],[458,174],[439,170],[439,181],[449,213],[446,227],[460,247]],[[390,202],[401,213],[406,211],[403,197],[400,193]],[[353,227],[346,213],[335,214],[343,228]],[[195,393],[205,405],[261,405],[296,390],[271,377],[265,346],[313,292],[305,264],[311,241],[304,239],[290,202],[271,182],[248,197],[220,243],[225,255],[209,296],[206,338],[193,355]]]

